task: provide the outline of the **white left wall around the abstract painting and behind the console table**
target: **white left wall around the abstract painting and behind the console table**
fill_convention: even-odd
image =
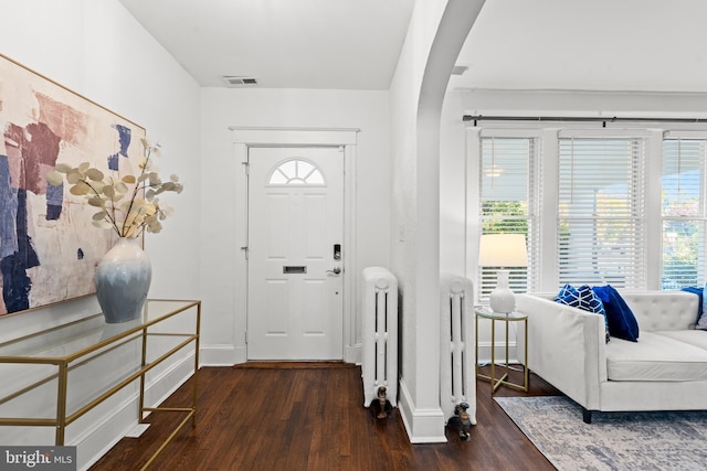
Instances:
[[[117,0],[0,0],[0,15],[4,19],[0,52],[144,126],[148,139],[161,143],[161,171],[179,174],[186,189],[163,199],[175,207],[175,215],[165,222],[161,234],[146,238],[152,261],[149,296],[199,298],[201,168],[196,82]],[[0,319],[0,336],[15,338],[95,312],[98,308],[91,297],[12,315]],[[170,367],[181,371],[184,361],[180,358]],[[98,372],[96,382],[108,381],[110,371],[104,371],[107,373]],[[166,394],[183,376],[155,384],[154,390]],[[67,445],[80,446],[80,468],[137,419],[135,392],[118,399],[91,420],[70,426]],[[93,431],[97,432],[89,437]],[[0,428],[0,442],[15,442],[18,437],[25,445],[53,443],[53,433],[39,429]]]

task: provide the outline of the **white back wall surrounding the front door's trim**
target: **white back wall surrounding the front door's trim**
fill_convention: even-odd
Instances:
[[[233,364],[245,360],[245,261],[240,247],[245,245],[246,227],[236,214],[245,204],[236,178],[244,170],[229,127],[360,129],[356,265],[359,270],[388,266],[388,92],[203,88],[201,104],[201,297],[208,310],[202,358],[208,364]]]

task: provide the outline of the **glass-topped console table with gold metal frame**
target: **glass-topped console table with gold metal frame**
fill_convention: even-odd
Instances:
[[[41,402],[56,396],[55,414],[45,407],[30,417],[8,417],[2,413],[0,426],[55,427],[54,445],[62,446],[68,425],[139,381],[140,424],[148,413],[186,414],[143,469],[147,468],[189,420],[196,426],[200,324],[201,301],[148,299],[141,318],[134,321],[109,324],[99,313],[0,343],[0,366],[18,376],[17,384],[3,385],[0,406],[20,397],[39,397]],[[191,405],[145,407],[145,375],[188,345],[194,350]],[[96,385],[92,368],[101,371],[101,377],[114,377]]]

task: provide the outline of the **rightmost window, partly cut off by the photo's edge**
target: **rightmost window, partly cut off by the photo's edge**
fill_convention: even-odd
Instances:
[[[663,289],[705,283],[706,141],[663,141]]]

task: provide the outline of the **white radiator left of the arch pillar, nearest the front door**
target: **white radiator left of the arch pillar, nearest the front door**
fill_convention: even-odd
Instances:
[[[392,407],[398,400],[398,279],[386,268],[363,269],[363,406],[386,387]]]

